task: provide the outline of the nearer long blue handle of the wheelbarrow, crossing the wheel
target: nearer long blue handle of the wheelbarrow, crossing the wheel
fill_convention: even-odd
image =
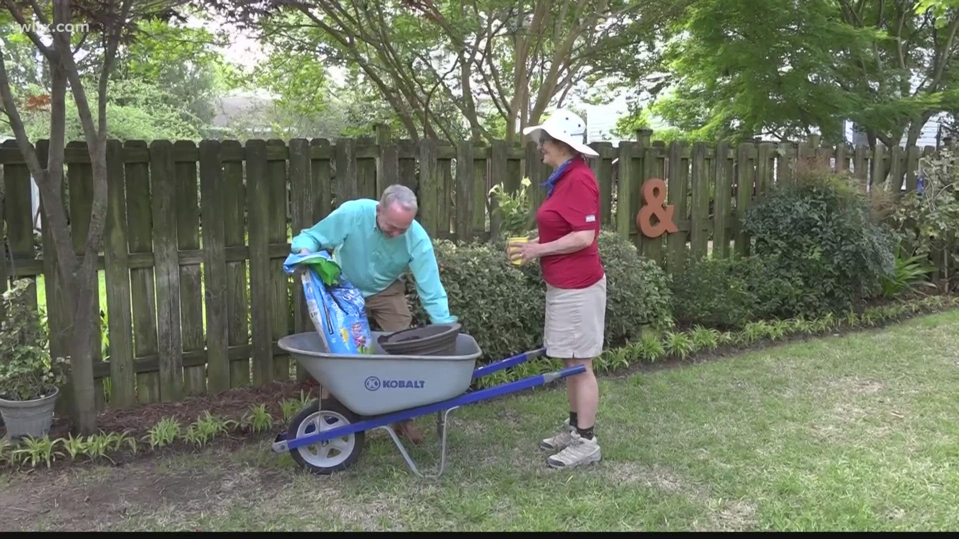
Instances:
[[[509,358],[503,360],[503,362],[515,361],[516,363],[523,363],[525,360],[517,360],[525,354],[520,354],[520,356],[515,356],[514,358]],[[498,362],[498,363],[503,363]],[[497,363],[493,363],[497,364]],[[505,368],[505,367],[499,367]],[[499,370],[499,368],[497,370]],[[522,391],[528,389],[529,387],[542,386],[544,384],[549,384],[560,378],[566,378],[567,376],[573,376],[574,374],[580,374],[586,371],[586,365],[577,364],[570,367],[566,367],[561,370],[548,372],[545,374],[537,374],[535,376],[530,376],[524,378],[523,380],[517,380],[515,382],[509,382],[507,384],[501,384],[500,386],[487,387],[485,389],[479,389],[477,391],[471,391],[458,395],[452,399],[445,401],[440,401],[438,403],[433,403],[429,405],[424,405],[421,407],[411,408],[409,410],[400,410],[394,411],[392,413],[386,413],[383,415],[377,415],[374,417],[368,417],[362,421],[356,423],[350,423],[349,425],[344,425],[343,427],[338,427],[336,429],[330,429],[329,431],[322,431],[316,434],[308,434],[305,436],[300,436],[292,440],[282,440],[275,442],[273,444],[273,451],[284,452],[291,451],[298,447],[304,445],[311,445],[317,442],[331,440],[333,438],[339,438],[340,436],[346,436],[349,434],[359,433],[361,431],[371,431],[377,427],[383,427],[385,425],[390,425],[398,421],[405,421],[407,419],[412,419],[413,417],[418,417],[420,415],[427,415],[435,411],[441,410],[451,410],[463,405],[473,404],[479,401],[484,401],[487,399],[493,399],[506,395],[508,393],[515,393],[517,391]]]

